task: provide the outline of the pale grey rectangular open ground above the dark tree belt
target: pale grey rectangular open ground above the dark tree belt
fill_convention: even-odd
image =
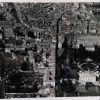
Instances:
[[[79,45],[83,44],[86,50],[94,51],[94,46],[100,45],[100,35],[75,35],[74,42],[76,48],[79,48]]]

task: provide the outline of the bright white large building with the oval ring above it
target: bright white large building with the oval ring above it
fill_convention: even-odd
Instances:
[[[86,66],[87,65],[87,66]],[[86,84],[88,82],[91,82],[95,85],[99,85],[100,83],[97,80],[97,78],[99,78],[100,73],[96,70],[98,68],[97,65],[95,64],[83,64],[81,68],[81,71],[79,72],[79,83],[80,84]],[[85,67],[89,67],[89,68],[85,68]],[[93,68],[94,67],[94,68]]]

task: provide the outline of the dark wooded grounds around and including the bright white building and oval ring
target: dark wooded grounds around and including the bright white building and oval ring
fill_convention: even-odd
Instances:
[[[87,36],[87,35],[86,35]],[[83,40],[82,40],[83,41]],[[58,69],[60,96],[99,95],[100,57],[99,46],[86,49],[80,42],[78,47],[68,44],[65,36],[62,48],[59,49]],[[77,43],[76,43],[77,45]],[[70,86],[70,84],[72,84]],[[68,87],[66,87],[68,86]],[[65,89],[66,87],[66,89]]]

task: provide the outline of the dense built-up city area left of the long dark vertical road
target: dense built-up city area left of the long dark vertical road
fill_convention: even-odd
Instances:
[[[55,96],[52,4],[0,3],[0,98]]]

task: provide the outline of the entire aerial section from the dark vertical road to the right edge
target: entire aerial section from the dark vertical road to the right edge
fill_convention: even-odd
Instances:
[[[61,8],[65,11],[56,24],[55,96],[100,96],[100,3],[67,3]]]

